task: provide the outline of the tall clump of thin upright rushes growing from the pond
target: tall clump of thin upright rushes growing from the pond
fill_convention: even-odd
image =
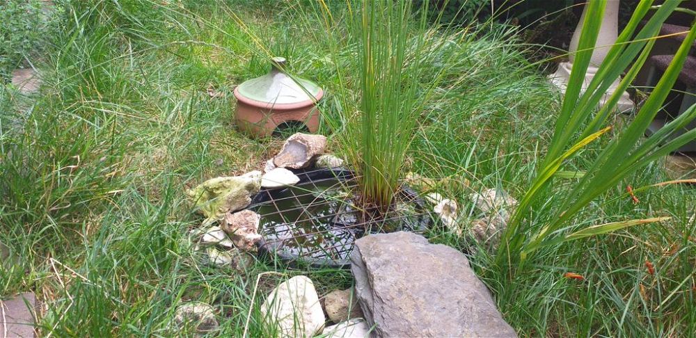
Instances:
[[[443,54],[464,38],[464,30],[442,34],[429,21],[428,1],[356,1],[344,16],[323,1],[315,8],[330,33],[324,38],[337,82],[329,120],[342,152],[356,171],[363,204],[386,212],[394,203],[404,162],[419,119],[456,54]],[[343,24],[343,29],[338,28]],[[347,50],[352,54],[346,58]]]

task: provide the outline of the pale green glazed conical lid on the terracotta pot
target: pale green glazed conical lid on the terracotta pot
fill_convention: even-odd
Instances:
[[[322,90],[319,86],[305,79],[294,81],[283,73],[280,68],[285,65],[285,58],[276,57],[271,60],[271,72],[244,81],[237,87],[239,95],[269,104],[296,104],[317,98]]]

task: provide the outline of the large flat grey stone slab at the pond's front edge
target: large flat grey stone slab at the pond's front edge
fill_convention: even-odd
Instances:
[[[516,337],[464,255],[409,232],[358,239],[356,295],[377,337]]]

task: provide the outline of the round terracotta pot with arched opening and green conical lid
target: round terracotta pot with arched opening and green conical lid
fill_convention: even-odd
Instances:
[[[315,83],[285,74],[285,58],[272,61],[269,74],[235,88],[237,126],[252,136],[269,136],[281,124],[303,124],[310,132],[317,131],[316,102],[324,91]]]

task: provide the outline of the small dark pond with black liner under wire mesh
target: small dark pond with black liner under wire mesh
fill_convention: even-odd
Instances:
[[[349,268],[356,239],[393,231],[422,233],[432,225],[425,201],[407,186],[397,195],[405,211],[361,221],[362,212],[342,192],[356,187],[344,168],[292,170],[300,181],[289,188],[262,189],[247,209],[261,215],[261,255],[294,267]],[[366,211],[370,211],[369,209]]]

